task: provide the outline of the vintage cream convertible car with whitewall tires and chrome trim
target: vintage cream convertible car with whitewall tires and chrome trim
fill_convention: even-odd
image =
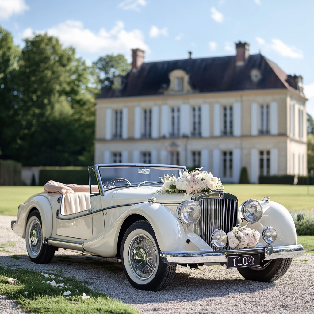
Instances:
[[[45,192],[19,205],[12,229],[26,238],[35,263],[49,263],[57,248],[115,257],[133,287],[152,291],[171,282],[176,264],[226,265],[246,279],[271,282],[303,254],[291,215],[269,197],[238,208],[236,196],[222,190],[152,195],[160,177],[183,171],[176,165],[90,166],[89,186],[49,181]],[[226,233],[241,221],[260,232],[260,243],[230,249]]]

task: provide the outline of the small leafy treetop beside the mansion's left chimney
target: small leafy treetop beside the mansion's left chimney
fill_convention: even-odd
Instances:
[[[106,55],[100,57],[95,63],[99,75],[101,88],[113,84],[113,77],[117,75],[124,76],[130,69],[131,65],[123,55]]]

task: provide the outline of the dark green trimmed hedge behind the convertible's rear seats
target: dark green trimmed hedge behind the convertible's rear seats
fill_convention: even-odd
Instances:
[[[55,168],[55,167],[49,167]],[[70,168],[70,169],[64,169]],[[72,169],[71,169],[72,168]],[[88,184],[87,167],[60,167],[59,169],[42,169],[39,172],[39,185],[45,185],[53,180],[64,184]]]

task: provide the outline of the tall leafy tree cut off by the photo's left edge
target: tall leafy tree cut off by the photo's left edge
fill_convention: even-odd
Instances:
[[[0,155],[15,149],[17,108],[20,94],[15,84],[19,48],[14,46],[11,33],[0,26]]]

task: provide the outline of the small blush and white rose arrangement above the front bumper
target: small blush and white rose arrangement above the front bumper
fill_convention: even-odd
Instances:
[[[229,246],[231,249],[244,249],[257,246],[260,238],[257,230],[245,227],[233,227],[232,231],[227,233]]]

